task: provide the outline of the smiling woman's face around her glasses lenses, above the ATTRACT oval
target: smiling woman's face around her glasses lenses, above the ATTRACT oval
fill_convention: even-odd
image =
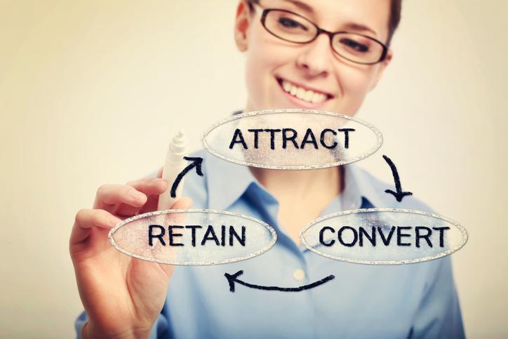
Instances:
[[[246,52],[245,110],[308,108],[354,115],[366,93],[377,84],[392,53],[383,62],[360,65],[337,55],[326,34],[309,44],[283,41],[262,26],[262,8],[292,11],[329,32],[356,32],[385,43],[390,0],[261,0],[262,8],[254,6],[255,14],[241,1],[235,24],[236,45]],[[291,86],[318,95],[310,98],[309,94],[303,100],[290,94]]]

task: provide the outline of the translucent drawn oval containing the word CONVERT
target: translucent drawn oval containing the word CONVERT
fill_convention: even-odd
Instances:
[[[458,222],[404,208],[332,213],[312,221],[300,232],[302,244],[314,253],[374,265],[441,258],[462,248],[467,238],[467,230]]]

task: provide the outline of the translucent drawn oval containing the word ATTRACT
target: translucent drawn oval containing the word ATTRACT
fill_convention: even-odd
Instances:
[[[201,138],[215,157],[259,168],[303,170],[359,161],[382,145],[366,121],[318,109],[267,109],[235,114]]]

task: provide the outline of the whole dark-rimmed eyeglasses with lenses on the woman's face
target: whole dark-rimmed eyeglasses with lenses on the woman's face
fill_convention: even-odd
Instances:
[[[254,1],[249,2],[260,6]],[[333,51],[349,61],[373,65],[382,62],[387,56],[387,46],[370,36],[350,32],[328,32],[302,15],[283,9],[262,9],[261,23],[263,27],[284,41],[308,44],[314,41],[319,34],[326,34],[330,37],[330,46]]]

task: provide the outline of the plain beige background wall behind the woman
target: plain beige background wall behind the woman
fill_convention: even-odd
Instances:
[[[243,107],[234,0],[0,0],[0,337],[66,338],[81,311],[67,253],[97,187],[194,149]],[[508,335],[508,2],[405,0],[395,57],[359,117],[385,143],[361,162],[458,220],[470,338]]]

